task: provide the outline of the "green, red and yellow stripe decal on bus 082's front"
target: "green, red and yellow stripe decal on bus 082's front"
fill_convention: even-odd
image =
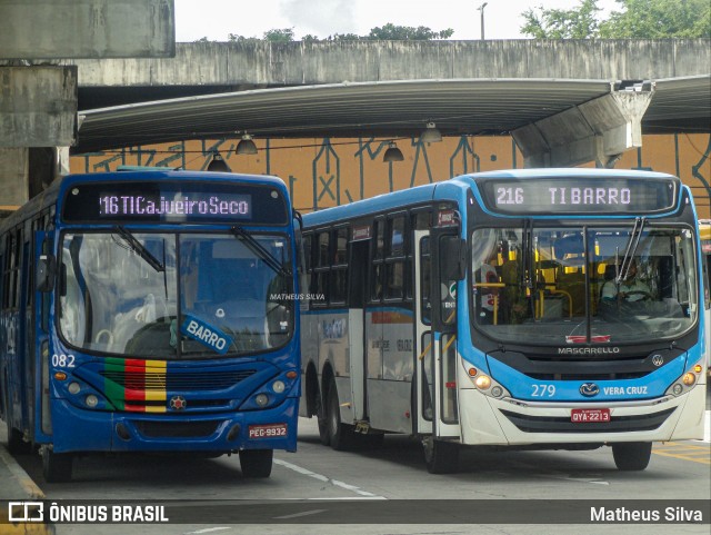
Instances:
[[[104,394],[118,410],[166,413],[164,360],[107,358]]]

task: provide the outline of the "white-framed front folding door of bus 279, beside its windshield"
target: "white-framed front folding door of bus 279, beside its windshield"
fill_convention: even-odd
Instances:
[[[413,430],[438,438],[460,436],[455,380],[458,279],[443,273],[438,260],[441,255],[451,254],[445,244],[459,242],[459,237],[449,232],[414,231],[417,429]]]

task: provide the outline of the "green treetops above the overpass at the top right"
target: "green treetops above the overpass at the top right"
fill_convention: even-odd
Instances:
[[[523,34],[534,39],[662,39],[711,37],[709,0],[615,0],[619,11],[599,20],[598,0],[571,9],[529,9]]]

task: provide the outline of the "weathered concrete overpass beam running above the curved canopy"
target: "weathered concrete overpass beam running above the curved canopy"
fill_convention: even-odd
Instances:
[[[83,59],[79,109],[323,83],[455,79],[658,80],[709,75],[711,40],[177,43],[174,58]]]

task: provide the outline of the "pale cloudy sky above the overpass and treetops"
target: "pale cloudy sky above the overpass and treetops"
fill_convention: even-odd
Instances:
[[[484,0],[174,0],[176,40],[190,42],[207,37],[227,41],[230,33],[262,38],[273,29],[290,28],[294,39],[311,34],[324,39],[333,33],[365,36],[372,28],[427,27],[432,31],[451,28],[450,39],[481,39]],[[487,39],[525,39],[521,13],[530,8],[571,9],[579,0],[487,0]],[[620,11],[614,0],[599,0],[600,13]]]

